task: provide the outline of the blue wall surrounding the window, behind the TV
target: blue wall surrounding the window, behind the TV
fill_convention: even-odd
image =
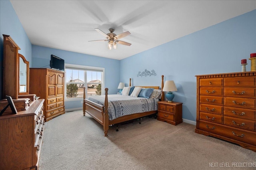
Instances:
[[[64,51],[60,49],[42,47],[32,45],[32,67],[50,68],[50,56],[56,55],[65,60],[68,64],[86,65],[93,67],[105,68],[105,87],[108,87],[108,94],[116,94],[118,92],[118,84],[120,77],[120,60],[97,57],[82,53]],[[104,88],[105,88],[104,87]],[[81,100],[82,101],[82,100]],[[65,109],[81,108],[82,103],[79,101],[65,101]]]

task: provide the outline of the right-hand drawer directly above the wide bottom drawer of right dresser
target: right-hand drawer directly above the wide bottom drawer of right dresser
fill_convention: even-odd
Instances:
[[[224,125],[230,125],[237,128],[255,130],[255,121],[224,116]]]

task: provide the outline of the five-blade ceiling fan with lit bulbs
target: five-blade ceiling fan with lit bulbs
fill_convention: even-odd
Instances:
[[[106,37],[107,39],[106,40],[93,40],[93,41],[89,41],[89,42],[95,42],[95,41],[98,41],[98,42],[102,42],[102,41],[107,41],[108,42],[108,49],[116,49],[117,45],[116,43],[119,43],[119,44],[122,44],[122,45],[132,45],[131,43],[128,43],[128,42],[123,42],[123,41],[120,41],[118,39],[120,38],[124,38],[128,35],[130,35],[131,33],[126,31],[126,32],[123,32],[121,34],[114,34],[114,29],[113,28],[110,28],[108,29],[110,33],[108,34],[105,34],[103,31],[101,31],[100,29],[98,28],[95,28],[96,31],[98,31],[100,34],[102,34],[104,37]]]

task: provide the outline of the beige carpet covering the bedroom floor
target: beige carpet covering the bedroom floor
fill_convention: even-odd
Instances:
[[[39,170],[255,170],[256,152],[145,117],[142,124],[103,127],[82,110],[46,122]],[[234,168],[234,163],[248,163]],[[224,165],[230,166],[225,168]],[[215,166],[215,167],[211,167]]]

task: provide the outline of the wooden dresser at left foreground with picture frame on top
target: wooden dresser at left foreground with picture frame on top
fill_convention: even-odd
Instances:
[[[0,169],[37,170],[44,134],[44,99],[26,111],[0,116]]]

